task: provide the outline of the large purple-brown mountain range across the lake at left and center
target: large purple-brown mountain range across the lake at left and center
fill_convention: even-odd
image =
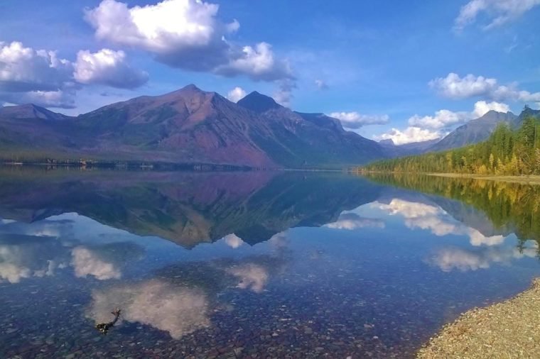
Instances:
[[[33,105],[0,109],[6,158],[95,158],[250,167],[342,167],[384,158],[372,140],[323,114],[300,114],[258,92],[234,104],[195,85],[140,96],[76,118]]]

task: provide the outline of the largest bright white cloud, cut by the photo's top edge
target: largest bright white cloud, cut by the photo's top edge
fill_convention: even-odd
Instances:
[[[100,40],[147,50],[171,66],[208,70],[226,56],[228,46],[222,37],[238,28],[237,22],[217,21],[218,9],[216,4],[194,0],[165,0],[132,8],[104,0],[97,8],[87,9],[85,19]],[[196,61],[192,55],[200,50],[215,57],[198,56],[201,61]]]

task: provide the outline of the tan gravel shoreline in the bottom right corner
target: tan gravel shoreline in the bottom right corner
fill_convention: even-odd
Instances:
[[[512,299],[466,311],[417,358],[540,358],[540,278]]]

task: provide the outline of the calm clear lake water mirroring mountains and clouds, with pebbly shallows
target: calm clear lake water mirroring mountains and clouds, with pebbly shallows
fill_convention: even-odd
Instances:
[[[347,175],[0,178],[1,358],[406,358],[540,274],[493,194],[481,210]]]

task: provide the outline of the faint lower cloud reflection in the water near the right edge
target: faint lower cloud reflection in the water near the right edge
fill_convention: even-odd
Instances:
[[[534,247],[527,247],[520,252],[511,247],[487,247],[480,250],[465,250],[463,248],[443,248],[436,251],[427,263],[439,267],[443,272],[460,270],[487,269],[492,263],[508,264],[512,260],[536,257],[536,243]]]

